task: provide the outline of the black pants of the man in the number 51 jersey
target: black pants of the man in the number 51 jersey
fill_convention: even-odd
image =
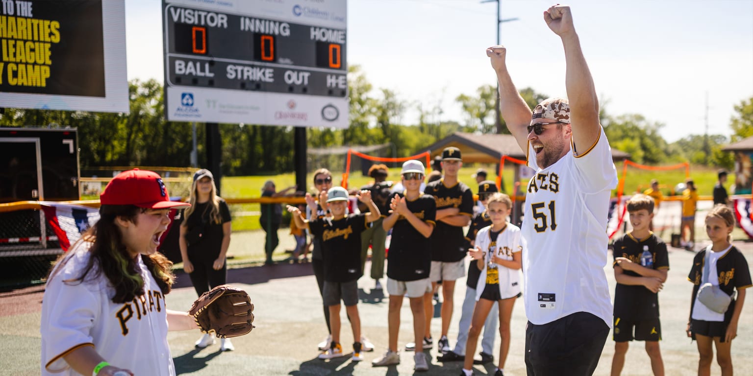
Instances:
[[[529,376],[591,375],[609,334],[604,320],[577,312],[551,323],[526,326],[526,371]]]

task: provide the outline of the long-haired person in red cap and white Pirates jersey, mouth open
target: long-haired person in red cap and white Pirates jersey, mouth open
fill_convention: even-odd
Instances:
[[[174,375],[167,331],[197,329],[169,311],[175,276],[157,253],[171,202],[160,175],[117,174],[100,196],[99,221],[50,272],[41,314],[41,374]]]

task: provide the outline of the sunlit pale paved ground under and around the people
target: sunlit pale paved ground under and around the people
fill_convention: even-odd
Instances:
[[[700,232],[703,235],[703,232]],[[234,234],[233,241],[243,244],[261,244],[263,233]],[[283,241],[281,248],[291,247],[288,236],[281,231]],[[745,253],[750,264],[753,261],[753,243],[735,241]],[[260,245],[261,247],[261,245]],[[690,305],[691,284],[687,282],[694,253],[686,250],[671,249],[669,254],[669,279],[660,293],[662,313],[663,341],[662,354],[668,375],[694,374],[698,354],[694,343],[685,337]],[[610,253],[611,257],[611,253]],[[368,267],[368,265],[367,265]],[[614,292],[614,277],[611,268],[605,267],[611,291]],[[194,349],[194,341],[200,337],[198,331],[171,332],[169,343],[178,374],[191,375],[390,375],[413,374],[412,353],[401,353],[401,364],[389,368],[372,368],[370,361],[376,358],[387,344],[387,298],[378,291],[370,290],[373,280],[361,278],[361,320],[363,332],[377,346],[374,353],[366,353],[364,362],[351,362],[343,357],[325,362],[316,359],[319,352],[316,344],[326,335],[322,314],[322,300],[316,288],[316,280],[310,264],[278,264],[271,266],[254,266],[232,269],[228,275],[229,282],[244,288],[252,296],[256,305],[257,326],[254,331],[233,343],[236,351],[218,352],[218,344],[203,350]],[[465,280],[459,280],[458,286],[465,286]],[[461,302],[465,294],[463,288],[456,291],[456,302]],[[196,295],[185,274],[178,274],[178,285],[167,296],[167,304],[172,309],[187,309]],[[0,351],[0,374],[32,375],[39,374],[39,308],[41,307],[41,287],[29,288],[14,293],[0,295],[0,341],[4,343]],[[438,307],[435,307],[438,308]],[[459,303],[450,326],[450,344],[454,345],[459,320]],[[410,341],[412,320],[407,302],[403,306],[403,322],[400,331],[400,344]],[[347,320],[342,315],[343,323]],[[439,335],[441,320],[432,320],[432,334]],[[505,367],[505,374],[526,374],[523,363],[523,344],[526,317],[523,305],[517,302],[512,319],[512,344],[510,356]],[[343,325],[343,344],[349,350],[352,336],[349,326]],[[497,340],[498,343],[498,340]],[[608,374],[611,365],[614,342],[608,339],[602,353],[596,374]],[[748,298],[739,323],[739,337],[733,342],[733,364],[737,374],[753,374],[753,301]],[[433,360],[431,375],[457,375],[460,363],[443,365],[436,361],[437,350],[430,350]],[[477,365],[477,374],[493,373],[494,369]],[[566,370],[563,370],[566,374]],[[651,374],[648,356],[642,344],[633,343],[627,354],[626,369],[623,374]],[[720,374],[718,367],[712,368],[712,374]]]

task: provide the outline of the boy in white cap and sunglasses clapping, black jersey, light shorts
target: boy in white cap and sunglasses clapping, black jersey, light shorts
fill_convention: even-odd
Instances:
[[[437,204],[434,198],[423,194],[419,187],[424,178],[421,162],[410,160],[403,163],[401,171],[404,193],[392,198],[392,212],[382,223],[385,231],[392,229],[392,241],[387,254],[387,293],[389,293],[389,349],[384,356],[374,359],[374,366],[400,363],[398,332],[400,308],[403,296],[410,299],[413,313],[413,338],[416,343],[416,371],[428,371],[426,354],[423,353],[424,301],[431,302],[431,248],[429,236],[434,230]]]

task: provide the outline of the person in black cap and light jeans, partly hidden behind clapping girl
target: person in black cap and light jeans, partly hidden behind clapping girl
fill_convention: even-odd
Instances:
[[[478,183],[478,202],[483,205],[484,210],[480,213],[474,214],[474,217],[471,220],[471,226],[468,226],[468,233],[465,234],[466,248],[474,247],[478,230],[483,229],[486,226],[491,226],[492,220],[489,218],[489,214],[486,211],[486,202],[488,202],[489,196],[492,196],[493,193],[497,192],[497,185],[492,180],[483,180]],[[458,341],[455,343],[455,348],[453,348],[453,350],[447,351],[447,353],[444,353],[441,356],[437,356],[437,360],[440,362],[455,362],[465,359],[465,342],[468,341],[468,329],[471,327],[473,308],[476,305],[476,286],[480,276],[481,271],[477,267],[476,262],[468,262],[468,278],[465,283],[465,299],[463,299],[460,322],[458,323]],[[492,304],[491,311],[497,311],[497,302]],[[486,322],[483,324],[480,363],[494,362],[492,347],[494,346],[494,337],[495,332],[497,331],[497,321],[495,315],[489,314],[488,317],[486,317]],[[473,354],[468,354],[468,356],[473,356]]]

